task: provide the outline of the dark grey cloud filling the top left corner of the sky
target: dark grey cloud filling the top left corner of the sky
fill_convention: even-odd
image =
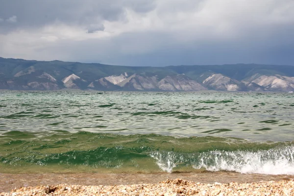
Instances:
[[[102,30],[101,22],[124,20],[124,9],[148,12],[153,0],[1,0],[1,19],[18,24],[1,24],[6,33],[16,28],[42,27],[56,22],[79,25],[89,32]],[[93,29],[93,26],[99,26]]]

